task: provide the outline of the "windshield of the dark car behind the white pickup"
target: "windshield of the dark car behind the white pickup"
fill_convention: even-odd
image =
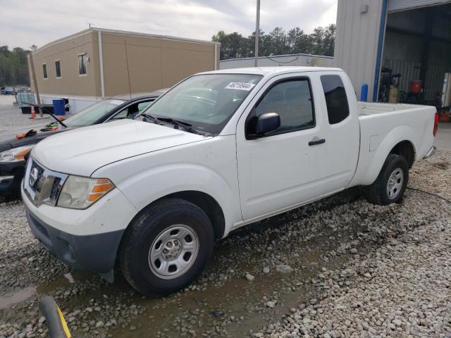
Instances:
[[[63,123],[68,127],[86,127],[87,125],[92,125],[124,102],[126,101],[105,100],[97,102],[97,104],[83,109],[75,115],[70,116],[70,118],[66,118]]]

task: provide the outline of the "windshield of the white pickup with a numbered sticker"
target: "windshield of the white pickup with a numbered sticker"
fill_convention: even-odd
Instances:
[[[181,82],[144,111],[189,123],[195,132],[219,134],[261,79],[260,75],[204,74]]]

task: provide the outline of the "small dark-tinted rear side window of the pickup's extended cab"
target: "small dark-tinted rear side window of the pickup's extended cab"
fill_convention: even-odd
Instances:
[[[327,114],[330,125],[340,123],[350,115],[345,85],[339,75],[322,75],[324,96],[326,96]]]

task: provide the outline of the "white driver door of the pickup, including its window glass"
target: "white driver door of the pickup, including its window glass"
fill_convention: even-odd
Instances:
[[[237,124],[237,161],[243,220],[282,211],[321,195],[323,139],[308,76],[281,75],[261,89]],[[257,99],[258,98],[258,99]],[[262,113],[280,115],[280,128],[249,138]]]

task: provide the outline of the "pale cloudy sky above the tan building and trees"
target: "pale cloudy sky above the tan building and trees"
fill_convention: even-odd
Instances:
[[[335,23],[338,0],[261,0],[260,29]],[[0,0],[0,46],[43,46],[88,27],[211,40],[255,30],[256,0]]]

